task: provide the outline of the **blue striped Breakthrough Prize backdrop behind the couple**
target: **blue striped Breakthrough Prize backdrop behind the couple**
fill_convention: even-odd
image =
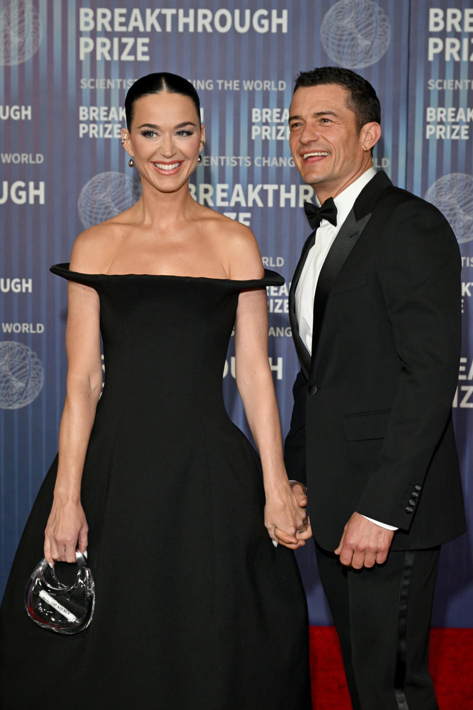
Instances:
[[[287,295],[310,199],[289,152],[299,70],[350,67],[377,89],[375,167],[436,204],[462,251],[463,346],[453,402],[469,535],[445,545],[436,626],[473,626],[473,9],[469,0],[0,0],[0,596],[55,456],[65,398],[68,261],[85,227],[140,191],[120,144],[126,90],[154,71],[194,83],[207,143],[192,194],[249,224],[268,289],[269,357],[284,433],[298,365]],[[425,255],[428,258],[428,254]],[[192,355],[189,354],[189,357]],[[223,373],[247,431],[233,343]],[[311,491],[311,495],[316,495]],[[46,521],[45,521],[46,522]],[[299,553],[311,623],[329,623],[313,546]]]

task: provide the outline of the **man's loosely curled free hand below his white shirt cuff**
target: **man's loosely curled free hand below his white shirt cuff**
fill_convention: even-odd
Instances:
[[[353,513],[343,529],[335,555],[346,567],[374,567],[375,563],[386,562],[393,536],[394,530],[386,530],[360,513]]]

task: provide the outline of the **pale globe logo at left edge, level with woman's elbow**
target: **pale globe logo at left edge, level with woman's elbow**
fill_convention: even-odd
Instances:
[[[41,361],[23,343],[0,343],[0,408],[20,409],[33,402],[43,388]]]

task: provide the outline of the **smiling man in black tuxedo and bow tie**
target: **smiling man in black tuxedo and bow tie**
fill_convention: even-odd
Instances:
[[[460,251],[438,209],[372,167],[380,109],[365,79],[302,72],[289,114],[322,207],[306,204],[313,232],[289,291],[301,371],[286,468],[308,487],[352,706],[433,710],[438,555],[465,530],[451,410]]]

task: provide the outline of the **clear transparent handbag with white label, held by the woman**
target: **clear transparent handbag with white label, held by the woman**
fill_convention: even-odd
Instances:
[[[94,579],[79,550],[76,564],[77,577],[70,585],[57,579],[54,567],[44,558],[33,570],[26,584],[25,608],[38,626],[66,634],[79,633],[89,626],[95,608]]]

